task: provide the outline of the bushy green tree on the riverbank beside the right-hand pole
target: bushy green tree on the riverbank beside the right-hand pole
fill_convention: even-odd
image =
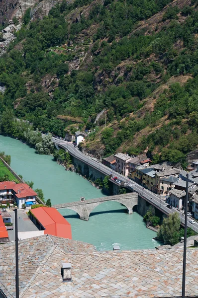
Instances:
[[[180,218],[178,213],[170,214],[164,218],[157,234],[159,240],[165,244],[174,245],[179,242]]]

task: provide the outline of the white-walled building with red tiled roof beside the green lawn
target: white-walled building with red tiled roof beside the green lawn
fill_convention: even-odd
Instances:
[[[11,181],[0,182],[0,202],[6,203],[14,200],[18,208],[22,204],[31,206],[36,203],[36,193],[26,183],[15,183]]]

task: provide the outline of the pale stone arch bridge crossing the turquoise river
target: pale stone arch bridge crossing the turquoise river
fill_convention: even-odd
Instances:
[[[90,199],[85,201],[80,200],[72,203],[57,204],[57,205],[53,205],[52,207],[55,209],[62,209],[62,208],[71,209],[76,213],[78,213],[81,220],[88,221],[91,212],[101,203],[108,202],[108,201],[115,201],[124,205],[128,209],[128,214],[132,214],[133,207],[137,205],[137,198],[138,198],[138,194],[133,192],[133,193],[123,194],[123,195],[102,197],[102,198]]]

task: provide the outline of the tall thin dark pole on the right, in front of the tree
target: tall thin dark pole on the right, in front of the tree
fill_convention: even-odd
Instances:
[[[183,253],[183,275],[182,275],[182,298],[185,298],[186,283],[186,256],[187,256],[187,211],[189,196],[189,172],[187,172],[186,198],[185,198],[185,224],[184,224],[184,253]]]

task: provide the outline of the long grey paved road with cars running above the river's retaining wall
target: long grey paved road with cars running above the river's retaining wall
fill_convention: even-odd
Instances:
[[[64,140],[59,140],[56,138],[52,138],[52,141],[55,144],[59,145],[60,147],[67,149],[71,155],[73,155],[76,158],[91,165],[92,167],[96,168],[103,174],[105,174],[105,175],[112,174],[113,176],[118,177],[119,179],[121,179],[122,181],[127,183],[126,186],[129,189],[139,193],[140,196],[145,198],[145,200],[150,202],[152,205],[154,205],[158,209],[162,210],[165,214],[172,214],[173,212],[177,212],[179,214],[181,223],[184,224],[185,216],[174,207],[172,209],[167,208],[167,203],[165,203],[163,200],[161,200],[159,195],[152,193],[148,189],[144,189],[141,185],[139,185],[133,181],[130,181],[125,176],[123,176],[123,175],[115,172],[114,170],[111,170],[109,167],[103,165],[101,162],[97,161],[95,158],[92,158],[90,156],[83,154],[78,148],[75,148],[72,143],[66,142]],[[198,223],[196,222],[196,224],[190,224],[189,221],[190,221],[190,218],[188,218],[188,226],[191,227],[196,232],[198,232]]]

